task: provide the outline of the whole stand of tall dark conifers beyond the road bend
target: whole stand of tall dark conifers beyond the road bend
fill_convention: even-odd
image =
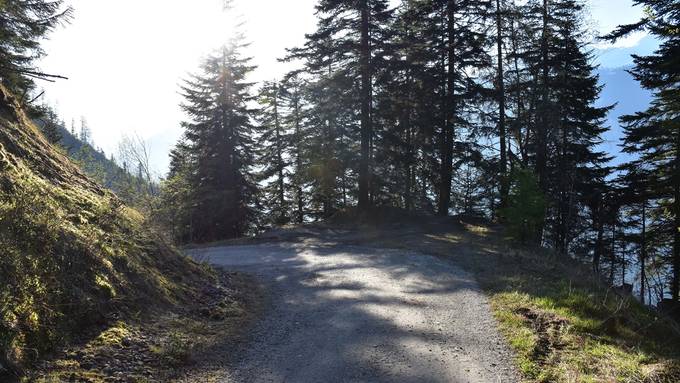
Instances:
[[[319,1],[317,30],[280,58],[297,67],[282,79],[250,82],[243,35],[185,79],[185,133],[160,190],[142,188],[153,194],[144,205],[177,243],[354,206],[479,216],[524,245],[591,262],[612,285],[633,275],[643,302],[677,301],[677,4],[638,3],[647,17],[594,37],[578,0]],[[14,12],[49,20],[3,27],[17,37],[3,39],[3,83],[28,95],[33,79],[59,77],[32,67],[31,37],[69,9],[56,1]],[[613,105],[596,106],[589,43],[641,30],[661,45],[630,72],[654,98],[621,118],[620,145],[634,160],[613,166],[601,148]],[[151,185],[144,162],[126,173]]]

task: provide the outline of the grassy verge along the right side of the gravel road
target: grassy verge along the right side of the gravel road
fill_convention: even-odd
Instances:
[[[677,324],[619,296],[586,265],[517,249],[479,222],[412,217],[402,226],[392,234],[366,225],[362,242],[452,258],[474,273],[527,382],[680,382]]]

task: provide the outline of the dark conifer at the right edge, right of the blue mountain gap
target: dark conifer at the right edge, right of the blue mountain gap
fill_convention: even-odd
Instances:
[[[623,25],[605,38],[615,41],[634,31],[647,30],[660,42],[649,56],[634,56],[630,71],[642,87],[653,91],[650,107],[621,118],[624,150],[637,154],[653,181],[650,214],[662,220],[659,235],[669,249],[670,292],[680,300],[680,13],[674,0],[636,0],[646,16]]]

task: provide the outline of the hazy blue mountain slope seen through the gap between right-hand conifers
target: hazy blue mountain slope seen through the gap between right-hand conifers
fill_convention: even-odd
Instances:
[[[626,71],[629,68],[603,68],[599,70],[600,83],[604,85],[604,88],[598,106],[616,104],[607,118],[610,130],[605,134],[605,143],[603,144],[604,150],[615,156],[614,164],[620,164],[630,159],[628,154],[621,153],[619,147],[623,137],[619,117],[647,109],[652,99],[651,93],[641,88],[633,76]]]

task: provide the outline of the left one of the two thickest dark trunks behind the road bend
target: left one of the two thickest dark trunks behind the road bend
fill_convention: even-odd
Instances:
[[[359,207],[370,205],[370,157],[371,137],[371,45],[369,36],[368,0],[361,1],[361,50],[359,65],[361,67],[361,161],[359,163]]]

